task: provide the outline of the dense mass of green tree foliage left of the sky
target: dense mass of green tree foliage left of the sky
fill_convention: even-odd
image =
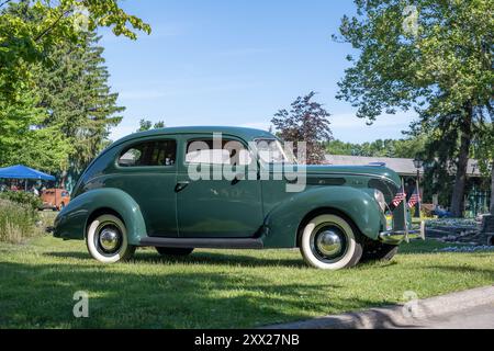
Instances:
[[[98,26],[132,39],[150,32],[116,0],[0,1],[0,166],[64,170],[68,155],[87,161],[120,121],[109,117],[121,110],[88,36]]]

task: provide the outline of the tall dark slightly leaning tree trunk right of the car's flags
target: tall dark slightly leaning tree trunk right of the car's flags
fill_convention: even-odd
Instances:
[[[467,167],[469,165],[470,145],[472,143],[472,120],[473,109],[467,110],[467,116],[461,123],[461,144],[458,157],[457,176],[454,180],[453,193],[451,196],[451,214],[453,217],[463,217],[464,189],[467,186]]]

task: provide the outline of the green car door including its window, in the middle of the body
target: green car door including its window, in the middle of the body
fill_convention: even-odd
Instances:
[[[245,141],[223,136],[215,146],[213,138],[210,134],[182,137],[176,189],[179,236],[254,237],[263,219],[260,181],[247,176],[248,163],[256,160]],[[232,150],[232,144],[243,150]]]

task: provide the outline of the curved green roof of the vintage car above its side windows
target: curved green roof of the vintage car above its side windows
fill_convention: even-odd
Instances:
[[[120,145],[122,143],[144,138],[144,137],[153,137],[160,135],[173,135],[173,134],[213,134],[221,133],[226,135],[235,135],[247,141],[252,140],[255,138],[272,138],[273,135],[269,132],[255,129],[255,128],[246,128],[246,127],[233,127],[233,126],[188,126],[188,127],[170,127],[170,128],[158,128],[146,132],[139,132],[131,134],[126,137],[123,137],[112,146]]]

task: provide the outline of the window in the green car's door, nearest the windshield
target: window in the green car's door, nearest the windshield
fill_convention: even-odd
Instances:
[[[236,140],[222,140],[221,148],[212,139],[194,139],[187,143],[187,163],[248,166],[250,152]]]

